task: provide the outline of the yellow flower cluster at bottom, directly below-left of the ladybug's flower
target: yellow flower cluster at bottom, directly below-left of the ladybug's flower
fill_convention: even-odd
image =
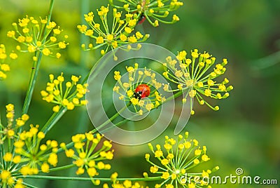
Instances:
[[[110,150],[111,142],[105,140],[101,144],[102,135],[98,133],[93,135],[92,133],[77,134],[72,136],[72,142],[74,143],[74,149],[67,149],[65,143],[62,143],[60,147],[64,149],[67,157],[74,159],[74,164],[78,167],[76,170],[77,175],[82,175],[87,172],[87,175],[94,177],[99,173],[97,170],[109,170],[110,164],[106,164],[102,161],[113,159],[113,150]],[[97,147],[99,149],[97,149]],[[99,180],[93,180],[94,184],[100,184]]]

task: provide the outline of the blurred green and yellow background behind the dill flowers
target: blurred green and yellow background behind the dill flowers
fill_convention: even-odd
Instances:
[[[155,43],[170,51],[190,51],[198,48],[216,56],[217,60],[228,58],[226,77],[235,87],[227,100],[210,101],[220,110],[195,104],[196,114],[191,116],[185,130],[201,145],[207,145],[211,161],[206,168],[220,166],[215,175],[235,175],[242,168],[245,175],[259,175],[262,179],[277,179],[280,184],[280,1],[279,0],[196,0],[183,1],[184,6],[176,12],[180,21],[174,25],[151,27],[148,22],[138,26],[142,32],[151,34],[148,43]],[[70,45],[62,51],[62,59],[43,58],[42,68],[31,101],[28,123],[43,125],[52,114],[52,105],[41,100],[40,90],[45,88],[48,74],[83,75],[100,55],[99,51],[81,51],[80,43],[87,38],[80,35],[76,25],[83,23],[83,14],[96,11],[108,1],[56,0],[52,20],[57,22],[64,34],[69,35]],[[0,0],[0,43],[8,51],[15,49],[15,41],[6,37],[13,29],[12,22],[25,15],[45,17],[49,1]],[[31,56],[20,54],[10,62],[8,79],[0,83],[0,112],[4,118],[8,103],[15,104],[20,114],[31,71]],[[90,130],[92,125],[85,108],[77,108],[57,123],[48,138],[68,142],[71,135]],[[171,125],[164,135],[172,135]],[[163,136],[163,135],[162,135]],[[160,143],[162,137],[153,141]],[[141,177],[149,166],[144,159],[146,145],[127,147],[114,145],[115,159],[112,170],[119,177]],[[61,158],[62,163],[67,159]],[[68,161],[69,162],[69,161]],[[141,165],[139,165],[141,164]],[[75,174],[75,170],[59,172],[58,175]],[[103,175],[102,175],[103,176]],[[90,182],[30,180],[37,187],[92,187]],[[256,187],[256,185],[227,184],[213,187]]]

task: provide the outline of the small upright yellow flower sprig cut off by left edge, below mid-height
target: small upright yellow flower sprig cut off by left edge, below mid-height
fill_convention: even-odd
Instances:
[[[23,114],[20,118],[15,119],[15,107],[12,104],[6,105],[6,118],[7,118],[7,126],[3,126],[0,123],[0,144],[8,139],[13,139],[16,137],[16,133],[18,132],[18,128],[25,125],[25,122],[29,119],[27,114]],[[1,122],[1,121],[0,121]]]

